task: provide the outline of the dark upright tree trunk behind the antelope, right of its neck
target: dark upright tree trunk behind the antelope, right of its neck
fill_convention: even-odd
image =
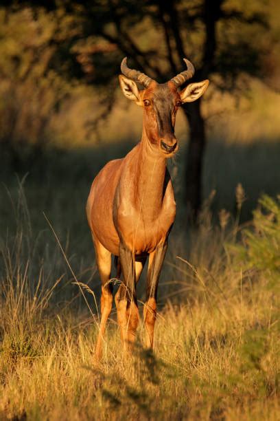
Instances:
[[[202,202],[202,164],[205,151],[205,121],[201,115],[200,100],[187,104],[184,108],[189,122],[189,147],[185,171],[185,203],[187,218],[196,222]]]

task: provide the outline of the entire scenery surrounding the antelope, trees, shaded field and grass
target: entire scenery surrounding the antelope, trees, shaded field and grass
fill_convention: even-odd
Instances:
[[[279,0],[0,0],[1,420],[279,420],[279,17]],[[124,56],[159,82],[187,57],[210,85],[177,116],[156,352],[124,364],[114,306],[96,367],[85,204],[141,138]]]

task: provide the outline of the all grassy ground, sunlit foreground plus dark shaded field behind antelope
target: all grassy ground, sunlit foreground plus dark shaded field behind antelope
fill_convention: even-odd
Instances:
[[[44,165],[30,169],[22,181],[3,163],[0,418],[279,418],[279,266],[266,253],[272,241],[272,253],[279,252],[279,204],[269,199],[268,209],[259,209],[253,224],[246,222],[262,189],[277,193],[279,171],[271,162],[279,145],[246,148],[209,144],[205,197],[211,188],[217,195],[205,203],[197,229],[182,230],[182,191],[176,181],[178,220],[159,286],[154,353],[141,345],[141,319],[135,351],[124,359],[114,307],[100,365],[93,363],[98,332],[93,294],[98,299],[100,285],[84,203],[98,169],[129,145],[107,145],[98,153],[49,153]],[[219,168],[228,170],[223,177],[219,157]],[[181,153],[176,163],[178,178],[183,158]],[[236,166],[231,170],[226,162]],[[252,177],[250,169],[259,165],[266,177]],[[213,181],[207,174],[216,170],[221,178]],[[241,209],[235,198],[238,182],[250,198]],[[223,211],[219,222],[220,208],[231,215]],[[143,288],[142,278],[141,312]]]

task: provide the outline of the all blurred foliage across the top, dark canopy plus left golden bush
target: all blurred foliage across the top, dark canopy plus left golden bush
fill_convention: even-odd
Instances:
[[[51,117],[73,98],[77,79],[97,89],[92,120],[106,116],[124,55],[159,81],[182,70],[187,55],[198,77],[210,75],[212,85],[229,90],[240,73],[261,77],[260,58],[269,47],[262,0],[12,3],[0,8],[0,142],[17,147],[54,136]]]

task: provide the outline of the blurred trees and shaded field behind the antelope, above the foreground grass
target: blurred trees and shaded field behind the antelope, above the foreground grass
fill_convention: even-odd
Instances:
[[[205,204],[214,223],[235,215],[237,185],[250,219],[261,193],[279,193],[279,15],[277,0],[1,1],[3,241],[24,220],[47,254],[45,213],[75,268],[92,269],[91,182],[141,138],[141,109],[119,89],[124,56],[159,82],[187,57],[211,81],[176,122],[173,238]]]

